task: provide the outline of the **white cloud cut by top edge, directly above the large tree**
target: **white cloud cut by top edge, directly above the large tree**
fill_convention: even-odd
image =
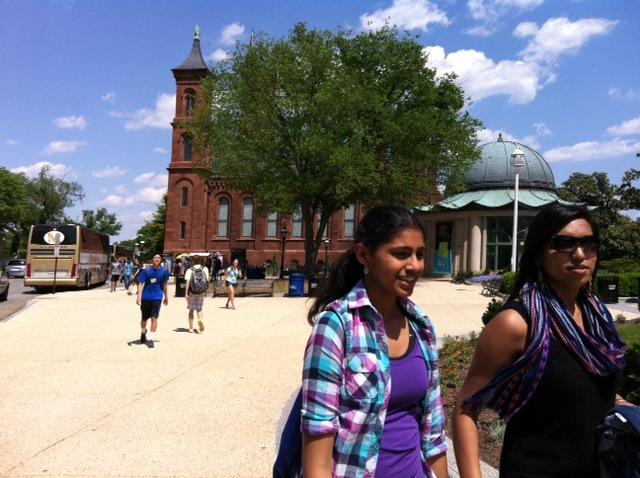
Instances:
[[[379,30],[387,23],[426,32],[429,24],[447,26],[451,22],[445,12],[428,0],[393,0],[389,8],[360,16],[360,26],[365,30]]]

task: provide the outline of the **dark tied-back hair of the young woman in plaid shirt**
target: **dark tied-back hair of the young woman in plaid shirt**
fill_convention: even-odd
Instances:
[[[424,226],[409,209],[402,206],[376,206],[369,209],[358,224],[354,245],[331,267],[327,285],[320,291],[309,310],[309,323],[313,323],[313,318],[327,304],[343,297],[364,277],[364,268],[358,262],[354,250],[356,244],[360,243],[371,252],[375,252],[378,247],[387,244],[405,229],[417,229],[422,232],[426,242]]]

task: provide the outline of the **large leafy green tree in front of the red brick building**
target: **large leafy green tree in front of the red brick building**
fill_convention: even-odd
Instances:
[[[423,204],[478,157],[463,91],[388,27],[352,35],[298,24],[285,39],[238,45],[199,105],[183,126],[208,158],[201,173],[253,191],[262,212],[299,209],[308,272],[342,207]]]

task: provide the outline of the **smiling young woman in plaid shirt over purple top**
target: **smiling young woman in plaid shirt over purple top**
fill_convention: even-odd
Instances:
[[[425,236],[408,209],[370,209],[309,311],[305,478],[448,476],[436,334],[409,299]]]

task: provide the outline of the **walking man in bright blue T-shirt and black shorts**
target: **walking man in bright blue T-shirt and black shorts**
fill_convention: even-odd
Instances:
[[[136,303],[140,306],[142,318],[140,320],[140,343],[146,343],[149,348],[154,347],[155,333],[158,328],[160,306],[169,305],[167,281],[169,272],[160,267],[162,257],[153,256],[151,267],[143,269],[138,275],[138,297]],[[147,333],[147,321],[151,319],[151,331]]]

